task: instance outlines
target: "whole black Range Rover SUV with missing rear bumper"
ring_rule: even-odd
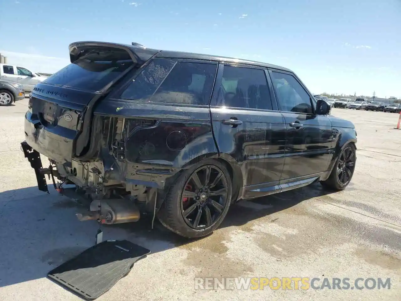
[[[241,199],[316,181],[342,190],[352,178],[354,125],[289,69],[137,43],[69,52],[71,64],[34,87],[21,144],[40,190],[49,175],[89,199],[80,220],[148,212],[195,238]]]

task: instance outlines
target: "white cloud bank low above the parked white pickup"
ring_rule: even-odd
[[[70,63],[68,55],[66,57],[50,57],[37,54],[36,51],[34,53],[22,53],[6,50],[0,50],[0,53],[7,57],[8,64],[20,65],[33,72],[54,73]]]

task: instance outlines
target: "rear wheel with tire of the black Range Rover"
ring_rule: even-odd
[[[207,236],[227,215],[231,193],[231,177],[225,165],[216,160],[203,161],[184,171],[170,187],[158,219],[180,236]]]

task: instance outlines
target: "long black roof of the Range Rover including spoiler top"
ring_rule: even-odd
[[[138,43],[132,43],[134,45],[128,45],[128,44],[121,44],[121,43],[108,43],[108,42],[95,42],[95,41],[80,41],[80,42],[74,42],[71,43],[69,48],[80,44],[80,43],[99,43],[103,45],[117,45],[120,47],[124,48],[129,48],[132,52],[134,52],[140,59],[143,61],[147,61],[155,55],[156,57],[171,57],[171,58],[180,58],[180,59],[199,59],[199,60],[206,60],[206,61],[219,61],[219,62],[227,62],[227,63],[236,63],[236,64],[247,64],[247,65],[253,65],[253,66],[260,66],[260,67],[266,67],[266,68],[272,68],[272,69],[278,69],[282,71],[288,71],[291,73],[294,73],[292,70],[277,66],[277,65],[272,65],[268,63],[263,63],[263,62],[257,62],[257,61],[248,61],[244,59],[237,59],[233,57],[221,57],[217,55],[207,55],[207,54],[201,54],[201,53],[191,53],[191,52],[182,52],[182,51],[169,51],[169,50],[161,50],[161,49],[151,49],[151,48],[146,48],[143,45],[140,45]]]

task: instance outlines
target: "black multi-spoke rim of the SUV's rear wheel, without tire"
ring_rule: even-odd
[[[227,179],[215,165],[204,165],[188,178],[181,194],[181,214],[194,230],[213,226],[229,205]]]

